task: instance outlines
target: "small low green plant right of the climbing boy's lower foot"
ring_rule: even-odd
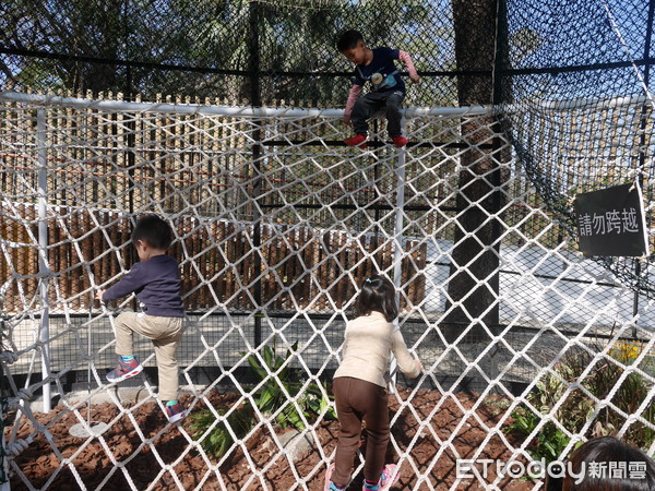
[[[225,416],[229,411],[228,406],[219,406],[216,408],[218,416]],[[191,412],[189,416],[191,424],[189,429],[194,439],[201,439],[205,432],[212,428],[216,421],[216,417],[209,409]],[[245,436],[252,428],[252,409],[242,404],[227,415],[225,419],[215,423],[210,433],[200,442],[203,450],[216,458],[223,457],[234,443],[234,438],[229,429],[237,439]]]

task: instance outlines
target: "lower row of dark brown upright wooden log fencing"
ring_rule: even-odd
[[[11,249],[11,264],[2,261],[0,282],[13,282],[4,309],[23,310],[38,297],[38,251],[34,243],[36,206],[17,206],[22,220],[0,214],[0,235],[26,244]],[[138,218],[138,217],[134,217]],[[135,261],[126,214],[107,209],[59,206],[47,219],[48,302],[52,311],[86,311],[96,286],[118,279]],[[252,224],[180,216],[174,220],[177,239],[169,254],[180,263],[182,296],[189,311],[267,311],[340,308],[359,284],[379,271],[390,272],[393,242],[373,235],[296,225],[262,224],[261,246],[253,247]],[[402,307],[425,298],[426,243],[405,240],[402,259]],[[260,271],[255,271],[259,255]],[[107,285],[108,286],[108,285]],[[255,297],[255,286],[261,298]]]

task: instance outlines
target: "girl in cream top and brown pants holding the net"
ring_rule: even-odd
[[[392,352],[405,375],[415,378],[422,370],[393,324],[398,307],[395,287],[388,278],[377,275],[365,279],[355,302],[355,314],[357,318],[346,325],[343,359],[334,373],[340,432],[335,462],[325,476],[325,491],[346,489],[362,421],[368,434],[362,489],[386,490],[397,481],[397,466],[384,465],[390,434],[384,374]]]

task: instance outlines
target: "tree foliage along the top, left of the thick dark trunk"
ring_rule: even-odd
[[[335,41],[346,28],[413,55],[427,73],[413,103],[455,101],[452,77],[433,74],[454,68],[450,2],[428,0],[8,0],[0,84],[240,101],[257,77],[264,103],[343,105],[353,67]]]

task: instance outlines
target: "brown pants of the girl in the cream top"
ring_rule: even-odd
[[[338,417],[338,445],[332,481],[347,484],[359,446],[361,421],[368,434],[364,478],[378,481],[384,469],[389,445],[389,395],[386,390],[371,382],[350,376],[334,379],[332,386]]]

